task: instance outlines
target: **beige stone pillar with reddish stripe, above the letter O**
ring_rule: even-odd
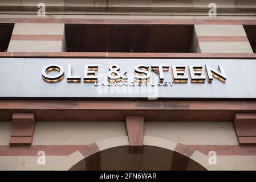
[[[7,52],[64,52],[64,23],[15,23]]]

